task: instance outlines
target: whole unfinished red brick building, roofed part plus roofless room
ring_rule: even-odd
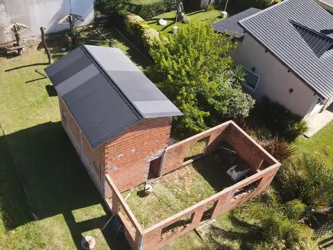
[[[172,140],[172,119],[182,113],[119,49],[80,46],[45,72],[58,92],[62,126],[133,249],[159,249],[259,195],[280,167],[231,121]],[[191,153],[194,144],[200,153]],[[151,203],[157,185],[167,190],[200,174],[212,196],[148,225],[144,205],[133,212],[139,192],[130,190],[149,184],[137,199]],[[191,183],[185,189],[191,195]]]

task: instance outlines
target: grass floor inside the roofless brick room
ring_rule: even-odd
[[[147,228],[233,185],[225,171],[223,163],[201,158],[153,183],[153,192],[147,197],[142,197],[143,185],[135,188],[127,199],[128,206]]]

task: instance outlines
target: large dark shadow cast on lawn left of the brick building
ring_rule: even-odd
[[[4,161],[0,165],[0,206],[8,230],[32,221],[31,211],[38,219],[61,214],[80,249],[83,232],[103,228],[111,214],[60,122],[26,128],[0,140],[0,161]],[[103,206],[104,216],[76,222],[73,210],[96,204]],[[112,228],[102,233],[110,249],[129,249],[123,234],[116,235]]]

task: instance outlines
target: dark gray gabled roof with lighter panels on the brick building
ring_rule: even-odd
[[[182,115],[119,49],[84,45],[45,72],[92,149],[140,119]]]

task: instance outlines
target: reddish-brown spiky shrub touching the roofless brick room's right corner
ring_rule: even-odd
[[[296,149],[290,146],[285,140],[275,137],[271,140],[262,140],[260,142],[262,147],[271,153],[275,159],[284,161],[293,156]]]

